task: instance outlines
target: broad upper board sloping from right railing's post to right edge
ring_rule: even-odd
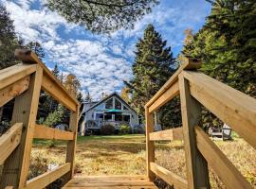
[[[184,71],[194,98],[256,148],[256,100],[200,73]]]

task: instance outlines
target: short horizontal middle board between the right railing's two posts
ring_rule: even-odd
[[[150,133],[150,141],[183,140],[183,129],[174,128]]]

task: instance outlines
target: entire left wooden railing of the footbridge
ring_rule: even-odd
[[[16,50],[15,57],[23,63],[0,70],[0,107],[15,98],[12,127],[0,137],[0,165],[4,164],[0,188],[45,188],[61,177],[66,182],[74,173],[80,105],[34,53]],[[35,124],[41,90],[70,110],[70,131]],[[27,180],[34,138],[66,140],[66,159],[54,170]]]

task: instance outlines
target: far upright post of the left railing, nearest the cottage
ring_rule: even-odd
[[[69,129],[71,129],[71,131],[75,134],[74,139],[72,141],[68,141],[67,143],[65,163],[71,163],[71,169],[67,174],[64,175],[64,182],[71,180],[74,175],[79,110],[80,108],[77,106],[76,112],[70,112]]]

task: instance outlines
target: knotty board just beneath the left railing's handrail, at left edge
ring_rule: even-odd
[[[13,99],[19,94],[25,92],[29,85],[30,77],[24,77],[14,83],[10,84],[6,88],[0,90],[0,107],[4,106],[9,100]]]

